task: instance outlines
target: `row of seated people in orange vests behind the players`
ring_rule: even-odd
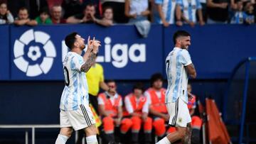
[[[144,89],[142,83],[134,84],[127,96],[117,92],[114,80],[106,82],[107,87],[114,91],[105,91],[97,96],[97,112],[102,120],[100,127],[103,143],[154,143],[176,129],[169,126],[169,114],[165,104],[164,78],[156,73],[151,76],[151,87]],[[188,84],[188,94],[191,94],[191,84]],[[193,143],[200,143],[202,119],[196,116],[196,96],[188,102],[193,128]],[[129,140],[126,139],[127,135]],[[105,136],[103,136],[105,135]]]

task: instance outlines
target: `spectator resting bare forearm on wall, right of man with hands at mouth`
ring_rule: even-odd
[[[105,7],[103,9],[103,18],[98,19],[92,15],[92,20],[95,21],[95,23],[100,24],[102,26],[113,26],[113,9],[111,7]]]

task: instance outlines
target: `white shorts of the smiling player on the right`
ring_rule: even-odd
[[[178,98],[176,102],[167,103],[166,108],[170,115],[169,125],[186,127],[188,123],[191,123],[188,105],[182,99]]]

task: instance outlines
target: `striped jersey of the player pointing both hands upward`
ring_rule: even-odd
[[[80,104],[89,104],[87,79],[85,72],[80,71],[84,63],[82,56],[76,52],[68,52],[63,61],[65,87],[60,99],[63,111],[75,111]]]

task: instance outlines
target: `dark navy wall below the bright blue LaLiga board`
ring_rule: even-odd
[[[117,81],[119,94],[132,92],[133,84],[149,81]],[[212,96],[222,107],[225,80],[193,81],[193,94],[198,99]],[[64,82],[0,82],[0,124],[58,124],[59,104]],[[166,87],[166,83],[164,83]]]

